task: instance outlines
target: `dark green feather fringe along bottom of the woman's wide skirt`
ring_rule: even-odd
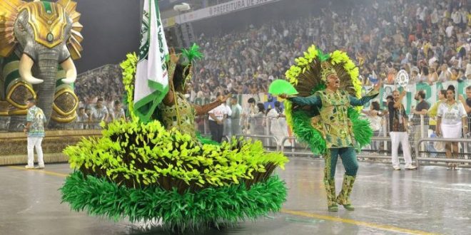
[[[255,219],[268,212],[280,211],[286,200],[285,182],[278,176],[265,182],[227,187],[211,187],[199,192],[178,194],[176,189],[161,187],[142,189],[118,186],[103,178],[73,172],[60,189],[62,202],[75,211],[87,211],[113,221],[128,218],[131,222],[161,219],[164,229],[203,229],[209,224],[234,224]]]

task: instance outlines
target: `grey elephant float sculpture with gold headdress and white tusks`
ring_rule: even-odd
[[[48,126],[65,127],[76,118],[74,93],[81,57],[76,2],[0,0],[0,118],[9,130],[26,120],[26,100],[36,98]]]

